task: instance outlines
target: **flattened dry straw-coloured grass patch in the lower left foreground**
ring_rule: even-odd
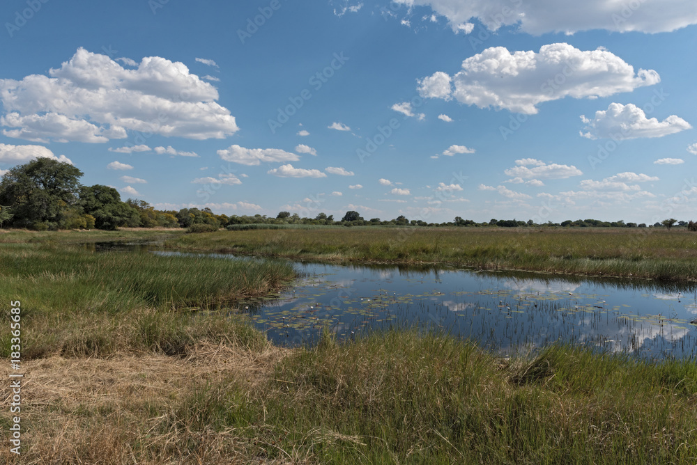
[[[178,425],[176,410],[206,386],[241,384],[250,393],[259,391],[273,366],[291,352],[272,345],[251,352],[209,344],[187,358],[120,352],[109,358],[28,361],[23,365],[21,460],[3,434],[0,463],[250,463],[259,451],[254,443],[239,439],[233,429]],[[3,379],[8,374],[3,370]],[[9,402],[3,399],[0,413],[6,424]],[[274,462],[260,457],[254,463]]]

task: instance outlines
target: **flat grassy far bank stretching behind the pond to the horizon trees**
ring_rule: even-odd
[[[647,228],[323,228],[181,235],[167,246],[335,262],[441,263],[697,280],[697,234]]]

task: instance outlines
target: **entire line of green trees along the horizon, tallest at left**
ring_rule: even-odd
[[[421,219],[409,220],[404,215],[391,220],[364,219],[350,210],[342,219],[323,212],[310,217],[279,212],[275,217],[266,215],[215,214],[209,208],[183,208],[181,210],[155,210],[144,200],[122,201],[121,194],[113,187],[95,184],[84,186],[79,182],[84,173],[71,164],[48,158],[38,158],[27,164],[15,166],[0,181],[0,227],[29,228],[34,230],[105,229],[128,228],[192,228],[206,225],[209,229],[244,224],[302,224],[328,226],[429,226],[429,227],[564,227],[564,228],[646,228],[684,226],[697,231],[693,221],[666,219],[647,225],[624,221],[600,221],[596,219],[567,220],[562,223],[537,224],[532,220],[491,219],[477,222],[456,216],[453,221],[428,223]]]

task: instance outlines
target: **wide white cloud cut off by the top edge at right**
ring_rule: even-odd
[[[477,19],[491,31],[516,25],[535,36],[562,32],[572,34],[591,29],[646,33],[670,32],[697,24],[692,0],[625,1],[586,0],[583,3],[559,0],[395,0],[408,7],[429,6],[447,19],[456,31],[468,29]],[[434,18],[430,18],[431,21]],[[470,31],[471,32],[471,31]]]

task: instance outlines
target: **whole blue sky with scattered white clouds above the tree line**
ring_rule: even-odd
[[[0,171],[68,159],[225,214],[697,219],[694,0],[9,0],[0,20]]]

